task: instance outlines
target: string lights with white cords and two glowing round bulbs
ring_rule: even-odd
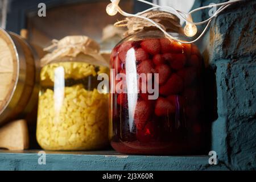
[[[137,0],[137,1],[146,3],[148,5],[151,5],[152,7],[150,9],[144,10],[144,11],[142,11],[140,13],[137,13],[137,14],[129,14],[129,13],[126,13],[125,11],[123,11],[118,6],[118,3],[119,3],[120,0],[110,0],[110,1],[111,1],[111,3],[106,7],[106,12],[110,16],[116,15],[119,12],[123,16],[127,16],[127,17],[131,17],[132,16],[132,17],[137,17],[137,18],[145,19],[148,22],[152,23],[155,27],[159,28],[159,30],[161,30],[164,33],[164,35],[167,36],[167,38],[174,39],[174,40],[176,40],[179,43],[191,44],[191,43],[194,43],[197,40],[199,40],[201,38],[201,36],[204,35],[204,33],[206,32],[207,28],[209,27],[209,24],[212,21],[212,19],[215,18],[218,14],[220,14],[221,11],[223,11],[224,9],[226,9],[228,6],[232,5],[233,3],[241,2],[241,1],[244,1],[244,0],[229,0],[228,2],[218,3],[218,4],[215,4],[215,5],[203,6],[203,7],[199,7],[197,9],[195,9],[195,10],[190,11],[188,14],[186,14],[186,13],[184,13],[182,11],[176,10],[173,7],[155,5],[154,3],[151,3],[151,2],[148,2],[148,1],[145,1],[145,0]],[[213,16],[211,16],[210,18],[208,18],[207,20],[204,20],[202,22],[193,22],[192,16],[191,16],[192,13],[195,13],[196,11],[199,11],[199,10],[203,10],[203,9],[207,9],[207,8],[212,8],[212,7],[217,7],[217,6],[221,6],[221,7],[216,11],[216,13],[213,14]],[[176,39],[173,36],[171,36],[170,34],[168,34],[168,32],[163,30],[163,28],[160,27],[156,22],[154,22],[154,20],[151,20],[150,18],[141,16],[141,14],[143,14],[143,13],[147,13],[148,11],[151,11],[153,9],[158,9],[158,8],[164,9],[164,10],[169,10],[169,11],[170,10],[174,11],[177,14],[177,16],[179,16],[181,19],[185,20],[186,25],[184,27],[184,34],[186,36],[188,36],[188,37],[192,37],[192,36],[196,35],[196,33],[197,33],[196,25],[207,23],[207,26],[205,26],[203,32],[201,32],[201,34],[195,40],[192,40],[191,42],[184,42],[184,41]],[[187,18],[185,18],[184,15],[187,16]]]

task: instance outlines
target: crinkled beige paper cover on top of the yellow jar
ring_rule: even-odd
[[[79,61],[89,64],[109,67],[108,61],[100,55],[100,45],[88,36],[66,36],[61,40],[52,40],[52,45],[44,48],[49,51],[55,48],[41,59],[41,67],[49,63],[64,61]]]

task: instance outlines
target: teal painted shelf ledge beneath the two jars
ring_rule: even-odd
[[[115,151],[46,151],[39,164],[39,150],[0,150],[0,170],[228,170],[223,163],[209,165],[209,156],[123,155]]]

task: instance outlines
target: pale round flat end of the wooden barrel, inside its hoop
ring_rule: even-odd
[[[18,60],[13,40],[0,30],[0,114],[10,101],[18,80]]]

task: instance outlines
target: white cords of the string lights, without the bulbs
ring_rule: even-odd
[[[154,24],[155,27],[159,28],[160,31],[162,31],[164,33],[164,35],[167,36],[167,38],[170,38],[170,39],[174,39],[176,40],[177,42],[180,42],[180,43],[183,43],[183,44],[191,44],[191,43],[194,43],[196,42],[197,40],[199,40],[204,34],[205,32],[207,31],[207,28],[209,27],[209,24],[210,22],[212,22],[212,19],[215,18],[218,14],[221,13],[221,11],[225,10],[227,7],[229,7],[230,5],[232,5],[233,3],[236,3],[236,2],[240,2],[240,1],[243,1],[243,0],[230,0],[228,2],[223,2],[223,3],[217,3],[215,5],[208,5],[208,6],[203,6],[203,7],[199,7],[195,10],[192,10],[190,11],[189,13],[184,13],[182,11],[179,11],[179,10],[176,10],[174,9],[173,7],[168,7],[168,6],[159,6],[159,5],[155,5],[154,3],[151,3],[151,2],[148,2],[148,1],[144,1],[144,0],[137,0],[139,2],[143,2],[143,3],[146,3],[148,5],[151,5],[152,7],[150,9],[147,9],[147,10],[144,10],[142,12],[139,12],[137,14],[130,14],[130,13],[126,13],[125,11],[123,11],[119,6],[118,6],[118,3],[119,3],[119,0],[110,0],[112,1],[112,3],[114,3],[116,6],[117,6],[117,10],[120,14],[122,14],[123,16],[127,16],[127,17],[137,17],[137,18],[141,18],[141,19],[144,19],[144,20],[147,20],[148,22]],[[191,19],[188,19],[188,18],[184,18],[183,15],[186,15],[187,17],[191,17],[191,14],[192,13],[195,13],[196,11],[199,11],[199,10],[203,10],[203,9],[207,9],[207,8],[212,8],[212,7],[217,7],[217,6],[221,6],[210,18],[208,18],[207,20],[204,20],[202,22],[192,22]],[[175,11],[175,13],[180,16],[181,19],[185,20],[186,23],[189,23],[189,24],[194,24],[194,25],[200,25],[200,24],[204,24],[204,23],[207,23],[207,25],[205,26],[203,32],[201,32],[201,34],[195,39],[195,40],[192,40],[191,42],[184,42],[182,40],[179,40],[179,39],[176,39],[174,38],[173,36],[171,36],[170,34],[168,34],[168,32],[166,32],[162,27],[159,26],[159,24],[157,24],[156,22],[154,22],[154,20],[151,20],[150,18],[147,18],[145,16],[141,16],[143,13],[147,13],[148,11],[151,11],[151,10],[154,10],[154,9],[158,9],[158,8],[161,8],[161,9],[164,9],[164,10],[171,10],[171,11]]]

